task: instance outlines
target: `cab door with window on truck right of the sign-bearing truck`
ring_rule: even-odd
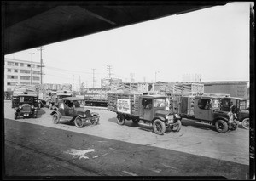
[[[212,120],[211,99],[195,99],[195,118]]]

